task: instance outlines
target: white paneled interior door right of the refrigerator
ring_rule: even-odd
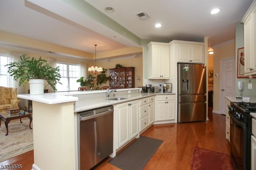
[[[220,61],[220,114],[226,115],[225,96],[235,95],[235,59],[223,59]]]

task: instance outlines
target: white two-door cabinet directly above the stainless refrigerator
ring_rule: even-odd
[[[179,63],[204,63],[204,43],[174,41]]]

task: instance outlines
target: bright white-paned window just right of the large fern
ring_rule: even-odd
[[[60,82],[56,84],[58,91],[77,91],[80,84],[76,82],[80,78],[80,65],[68,63],[56,63],[60,67]]]

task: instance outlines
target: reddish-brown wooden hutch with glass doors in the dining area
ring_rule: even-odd
[[[109,69],[109,87],[115,89],[134,88],[135,67]]]

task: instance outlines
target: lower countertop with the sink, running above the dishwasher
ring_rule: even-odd
[[[126,95],[116,95],[115,97],[126,98],[123,100],[107,100],[106,98],[96,98],[96,99],[86,99],[86,100],[78,100],[75,103],[74,112],[87,111],[90,109],[96,109],[99,107],[105,107],[109,105],[116,105],[120,103],[125,103],[132,100],[142,99],[144,97],[150,97],[154,95],[175,95],[175,93],[131,93]],[[109,97],[113,98],[113,97]]]

